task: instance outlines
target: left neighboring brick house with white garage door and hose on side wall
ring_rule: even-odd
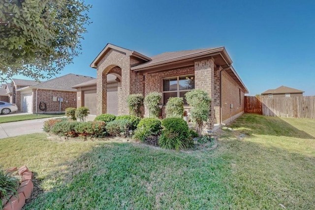
[[[64,112],[68,107],[76,107],[76,89],[72,86],[94,80],[95,78],[67,74],[45,82],[34,83],[17,89],[20,111],[28,113]],[[12,80],[13,81],[13,80]]]

